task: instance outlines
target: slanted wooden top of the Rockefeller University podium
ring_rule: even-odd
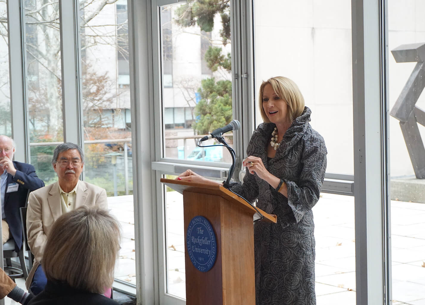
[[[241,199],[238,195],[233,194],[224,186],[218,184],[208,184],[200,182],[191,182],[191,181],[180,181],[174,179],[165,179],[161,178],[161,182],[167,186],[170,186],[172,189],[183,194],[185,192],[195,192],[195,193],[204,193],[209,195],[220,196],[228,201],[237,201],[238,203],[244,205],[246,208],[252,210],[252,214],[258,214],[257,211],[249,203]],[[276,215],[268,214],[263,210],[257,208],[258,211],[264,216],[265,221],[276,223]]]

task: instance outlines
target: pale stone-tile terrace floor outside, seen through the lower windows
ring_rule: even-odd
[[[122,225],[115,275],[136,283],[133,196],[108,198]],[[185,295],[182,197],[167,192],[168,293]],[[356,304],[354,198],[322,194],[313,208],[317,305]],[[391,201],[393,304],[425,305],[425,204]],[[18,285],[24,287],[23,280]],[[6,304],[14,304],[6,300]]]

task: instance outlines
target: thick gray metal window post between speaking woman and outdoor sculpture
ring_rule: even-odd
[[[354,213],[357,304],[389,304],[385,257],[388,152],[382,88],[382,8],[373,1],[353,1],[352,65],[354,121]],[[381,118],[381,119],[379,119]]]

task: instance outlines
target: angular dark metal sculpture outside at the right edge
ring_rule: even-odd
[[[400,45],[391,51],[396,62],[417,62],[390,115],[400,121],[416,178],[425,179],[425,148],[418,123],[425,126],[425,111],[416,102],[425,88],[425,43]]]

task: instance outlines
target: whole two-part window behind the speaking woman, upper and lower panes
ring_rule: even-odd
[[[326,172],[353,174],[351,2],[254,0],[253,14],[256,125],[261,82],[292,79],[325,139]],[[322,194],[313,215],[317,304],[354,305],[354,198]]]

